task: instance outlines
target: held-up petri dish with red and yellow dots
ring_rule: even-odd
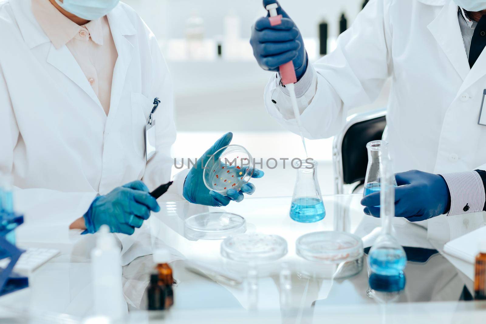
[[[240,190],[254,171],[251,154],[241,145],[228,145],[211,155],[204,166],[203,180],[209,190],[226,195],[227,189]]]

